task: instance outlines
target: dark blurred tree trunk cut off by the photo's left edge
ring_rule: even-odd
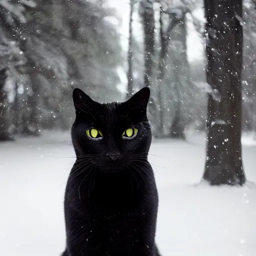
[[[6,69],[0,70],[0,141],[13,140],[14,137],[8,132],[9,119],[6,106],[6,94],[4,92],[4,83],[7,78]]]

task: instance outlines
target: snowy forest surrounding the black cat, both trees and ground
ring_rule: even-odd
[[[255,74],[255,0],[0,0],[0,255],[64,248],[73,89],[146,86],[161,255],[254,256]]]

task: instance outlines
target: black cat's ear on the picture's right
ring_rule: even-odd
[[[145,110],[150,96],[150,89],[148,87],[143,87],[132,95],[127,101],[125,101],[126,107],[129,110],[141,109]]]

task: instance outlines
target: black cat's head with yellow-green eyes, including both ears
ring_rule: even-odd
[[[71,136],[77,158],[102,171],[129,167],[134,158],[146,159],[152,137],[146,116],[149,94],[144,87],[125,102],[101,104],[74,89]]]

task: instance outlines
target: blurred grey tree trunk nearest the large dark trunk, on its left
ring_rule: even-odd
[[[184,108],[184,98],[190,98],[189,95],[189,69],[187,62],[186,49],[186,13],[187,7],[170,8],[165,11],[170,17],[170,23],[167,28],[166,37],[171,40],[171,68],[170,89],[174,94],[174,117],[172,118],[169,136],[171,138],[185,139],[185,125],[188,118],[183,118],[182,108]],[[165,53],[166,54],[166,53]],[[187,88],[187,89],[184,89]],[[161,91],[161,90],[160,90]],[[188,92],[188,93],[187,93]],[[164,108],[164,105],[161,106]],[[188,117],[188,116],[187,116]],[[186,122],[184,122],[186,119]]]

